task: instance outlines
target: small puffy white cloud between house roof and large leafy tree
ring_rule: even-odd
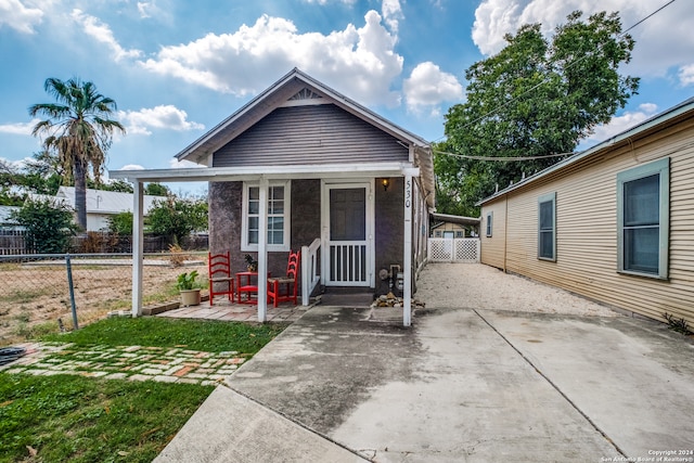
[[[455,76],[442,72],[432,62],[420,63],[402,82],[408,110],[419,112],[424,107],[438,111],[445,101],[463,98],[463,86]]]

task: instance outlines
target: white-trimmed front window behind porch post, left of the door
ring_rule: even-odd
[[[290,250],[291,182],[268,187],[268,250]],[[258,250],[260,231],[260,185],[243,185],[241,250]]]

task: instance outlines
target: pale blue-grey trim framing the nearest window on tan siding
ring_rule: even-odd
[[[624,184],[644,177],[659,175],[658,273],[625,269]],[[654,160],[617,173],[617,272],[658,280],[668,279],[670,234],[670,158]]]

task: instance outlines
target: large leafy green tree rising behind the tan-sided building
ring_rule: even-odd
[[[506,35],[498,54],[465,73],[467,100],[446,115],[446,141],[436,144],[439,210],[476,215],[475,203],[561,160],[606,124],[637,93],[639,79],[622,76],[633,39],[617,13],[582,18],[576,11],[548,39],[540,24]],[[480,160],[464,156],[531,157]]]

